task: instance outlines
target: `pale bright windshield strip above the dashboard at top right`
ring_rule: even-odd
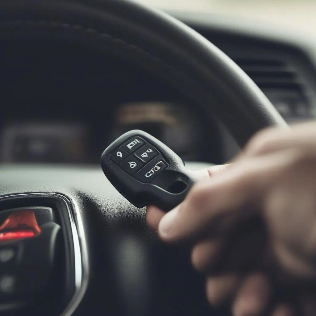
[[[140,0],[163,10],[209,12],[282,25],[316,36],[315,0]]]

